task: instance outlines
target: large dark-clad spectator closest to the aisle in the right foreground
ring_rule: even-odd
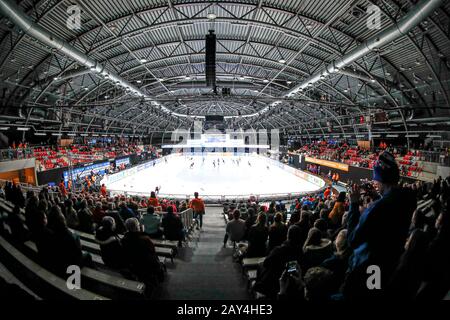
[[[300,243],[301,230],[294,225],[289,227],[287,240],[275,247],[266,257],[262,266],[258,269],[257,279],[253,289],[269,298],[275,298],[279,292],[279,279],[286,263],[299,261],[302,251]]]

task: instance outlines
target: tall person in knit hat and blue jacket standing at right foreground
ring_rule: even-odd
[[[347,230],[353,255],[342,287],[344,299],[386,297],[387,283],[404,251],[411,218],[417,206],[415,193],[401,188],[399,179],[394,156],[383,152],[373,169],[375,188],[381,198],[360,214],[360,187],[352,187]],[[380,271],[378,275],[374,268]],[[377,280],[371,276],[379,278],[380,286],[375,285],[374,288]]]

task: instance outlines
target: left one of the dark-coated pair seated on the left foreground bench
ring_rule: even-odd
[[[103,262],[110,268],[126,267],[125,253],[116,233],[116,223],[112,217],[103,217],[95,232],[95,240],[100,245]]]

